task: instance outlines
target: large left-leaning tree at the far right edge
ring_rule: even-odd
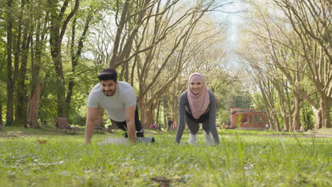
[[[311,106],[318,109],[316,124],[320,128],[330,128],[329,115],[332,101],[332,54],[331,54],[331,4],[327,1],[275,1],[292,24],[294,32],[301,41],[303,57],[319,96],[319,108],[303,92],[295,88],[297,94],[304,96]],[[296,86],[296,85],[294,85]]]

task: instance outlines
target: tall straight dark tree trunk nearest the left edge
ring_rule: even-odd
[[[12,28],[13,28],[13,15],[12,15],[13,0],[7,0],[7,18],[6,18],[6,31],[7,31],[7,113],[6,125],[13,125],[13,81],[11,79],[11,46],[12,46]]]

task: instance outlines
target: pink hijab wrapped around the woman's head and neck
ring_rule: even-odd
[[[192,91],[190,90],[190,83],[192,81],[200,81],[201,84],[203,85],[203,88],[197,95],[192,93]],[[192,109],[192,116],[194,116],[195,119],[198,119],[199,117],[201,117],[202,114],[204,114],[206,108],[208,108],[210,104],[209,92],[206,89],[203,74],[193,73],[190,75],[187,98],[189,101],[190,109]]]

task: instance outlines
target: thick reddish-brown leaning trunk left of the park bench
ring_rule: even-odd
[[[35,90],[30,93],[26,119],[28,127],[40,128],[40,125],[38,124],[38,109],[42,89],[43,84],[38,83]]]

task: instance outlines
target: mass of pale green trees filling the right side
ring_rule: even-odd
[[[316,115],[316,125],[329,128],[332,87],[327,85],[332,64],[326,49],[331,48],[327,39],[331,38],[331,13],[321,12],[329,12],[330,5],[320,0],[314,4],[310,0],[247,2],[248,25],[243,27],[239,54],[248,64],[250,77],[260,85],[268,117],[277,128],[280,114],[287,130],[298,130],[305,102],[314,108],[314,113],[309,110],[306,115]]]

